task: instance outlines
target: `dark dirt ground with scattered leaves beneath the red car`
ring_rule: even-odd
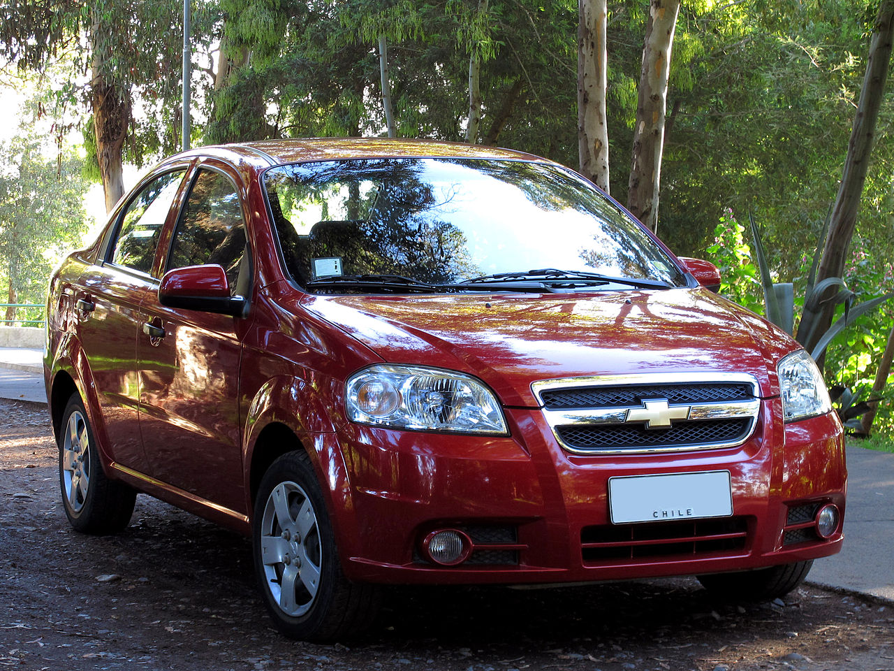
[[[399,588],[358,640],[289,641],[268,624],[246,539],[143,496],[122,534],[72,531],[46,408],[0,412],[0,669],[894,669],[890,604],[814,587],[723,604],[688,579]]]

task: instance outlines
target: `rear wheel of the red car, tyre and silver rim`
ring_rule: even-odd
[[[72,527],[97,535],[122,531],[131,522],[137,493],[105,477],[87,411],[77,394],[65,405],[56,443],[59,484]]]

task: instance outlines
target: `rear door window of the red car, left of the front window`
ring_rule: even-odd
[[[163,174],[143,187],[122,215],[112,262],[142,273],[152,271],[164,220],[180,188],[184,171]]]

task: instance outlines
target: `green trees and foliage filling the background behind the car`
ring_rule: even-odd
[[[138,165],[178,149],[179,2],[57,0],[52,11],[19,0],[0,5],[10,17],[0,27],[0,81],[53,64],[55,76],[37,87],[42,102],[22,117],[58,119],[50,135],[60,140],[72,125],[79,128],[87,156],[81,161],[93,166],[86,174],[108,173],[107,165],[99,166],[118,140],[123,159]],[[839,188],[879,8],[880,0],[680,5],[658,233],[681,255],[717,262],[723,291],[749,308],[763,310],[751,236],[738,223],[749,212],[761,224],[774,279],[795,283],[796,296],[803,295]],[[626,202],[650,2],[610,0],[606,9],[609,188]],[[499,144],[578,166],[576,2],[194,0],[193,12],[194,144],[384,135],[390,102],[398,136]],[[471,72],[477,106],[469,97]],[[894,142],[886,141],[892,103],[889,85],[845,275],[862,298],[894,288]],[[104,125],[103,115],[114,118]],[[470,131],[469,119],[479,116]],[[117,139],[114,128],[121,131]],[[67,189],[82,190],[62,169],[73,149],[55,141],[50,148],[57,160],[37,161],[30,172],[44,169]],[[20,157],[8,150],[0,156],[0,172],[13,175],[11,183],[22,169]],[[6,239],[25,201],[4,188],[0,238]],[[62,213],[76,210],[52,209],[55,221],[35,218],[30,225],[55,232],[61,242],[76,229]],[[24,281],[7,265],[0,282],[19,300],[40,302],[48,267],[47,261],[42,270],[27,270]],[[892,328],[890,304],[849,327],[828,352],[828,381],[867,395]],[[874,429],[894,432],[890,399]]]

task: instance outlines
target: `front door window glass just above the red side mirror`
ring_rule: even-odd
[[[168,270],[215,263],[235,293],[246,253],[239,194],[223,174],[199,171],[174,232]]]

